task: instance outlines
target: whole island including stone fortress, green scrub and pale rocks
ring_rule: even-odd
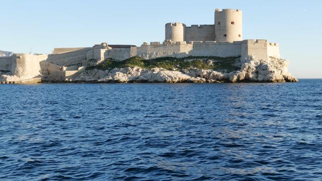
[[[55,48],[52,54],[0,57],[0,81],[296,82],[279,44],[243,40],[241,10],[215,10],[212,25],[168,23],[165,41]]]

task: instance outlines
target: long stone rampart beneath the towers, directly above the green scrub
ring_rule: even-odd
[[[158,57],[187,57],[187,56],[254,56],[267,60],[270,56],[280,58],[279,47],[276,43],[268,43],[267,40],[244,40],[234,42],[216,41],[190,41],[151,42],[149,45],[143,43],[141,47],[129,49],[106,50],[104,58],[125,60],[130,57],[140,56],[144,59]]]

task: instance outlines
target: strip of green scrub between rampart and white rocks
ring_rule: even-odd
[[[168,70],[173,69],[213,69],[217,71],[234,71],[239,68],[234,64],[239,57],[185,57],[185,58],[174,58],[174,57],[161,57],[151,60],[144,60],[141,57],[131,57],[124,61],[117,61],[112,58],[108,58],[101,62],[95,67],[89,67],[90,69],[97,68],[101,70],[107,70],[112,68],[125,68],[125,67],[141,67],[141,68],[164,68]],[[209,60],[212,64],[209,64]]]

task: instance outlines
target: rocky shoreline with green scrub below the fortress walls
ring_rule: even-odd
[[[243,57],[185,57],[124,61],[87,61],[82,70],[65,78],[54,78],[42,71],[36,77],[18,77],[0,72],[1,81],[21,83],[220,83],[220,82],[297,82],[288,72],[289,62],[270,57],[260,60]],[[77,67],[76,67],[77,68]]]

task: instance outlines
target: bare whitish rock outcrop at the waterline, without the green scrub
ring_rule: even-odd
[[[211,64],[212,62],[208,61]],[[212,69],[166,70],[163,68],[143,69],[114,68],[110,70],[91,69],[79,72],[68,81],[77,82],[297,82],[288,71],[287,60],[270,57],[263,61],[254,57],[240,58],[237,71],[218,72]]]

